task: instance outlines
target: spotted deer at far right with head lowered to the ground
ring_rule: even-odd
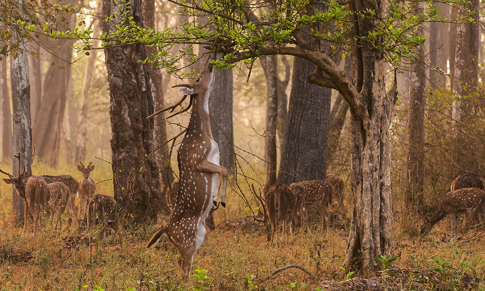
[[[478,188],[462,188],[448,192],[438,205],[438,209],[424,221],[421,235],[428,235],[433,226],[445,216],[450,218],[451,241],[456,236],[458,216],[467,213],[473,223],[478,224],[478,214],[484,211],[485,191]]]

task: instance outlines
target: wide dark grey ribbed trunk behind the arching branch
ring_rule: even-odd
[[[278,183],[325,178],[332,90],[308,82],[314,69],[314,64],[295,57]]]

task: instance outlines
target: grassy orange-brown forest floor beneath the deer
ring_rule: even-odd
[[[48,220],[36,238],[32,228],[22,236],[12,222],[10,188],[1,183],[0,190],[0,290],[188,290],[179,283],[178,252],[170,242],[146,249],[157,224],[125,224],[122,245],[110,235],[90,260],[86,230],[77,226],[59,233]],[[297,230],[274,246],[241,200],[229,194],[228,207],[214,212],[216,230],[194,256],[192,275],[200,274],[191,278],[194,290],[485,290],[484,239],[449,242],[448,219],[424,240],[406,234],[396,219],[399,259],[382,258],[357,274],[340,268],[351,213],[334,211],[329,232],[317,217],[310,232]],[[291,264],[312,275],[298,268],[272,275]]]

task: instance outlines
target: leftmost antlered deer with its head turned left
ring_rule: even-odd
[[[47,205],[49,201],[49,187],[41,176],[29,177],[30,173],[25,172],[25,166],[20,172],[20,165],[22,164],[20,152],[14,157],[18,160],[17,176],[13,176],[1,169],[0,173],[8,175],[8,179],[3,179],[3,181],[7,184],[13,184],[17,194],[24,200],[24,228],[22,235],[25,233],[27,217],[30,211],[33,217],[33,236],[35,237],[37,234],[37,222],[42,226],[42,212],[49,210]],[[27,178],[26,183],[24,180]]]

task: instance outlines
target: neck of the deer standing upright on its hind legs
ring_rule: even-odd
[[[209,136],[212,138],[212,132],[210,131],[210,116],[209,116],[209,95],[210,90],[207,90],[205,94],[195,94],[194,105],[190,117],[189,126],[187,127],[187,133],[192,136]]]

